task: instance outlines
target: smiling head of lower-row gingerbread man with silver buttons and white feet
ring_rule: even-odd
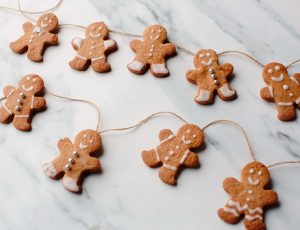
[[[90,154],[101,149],[101,137],[95,130],[83,130],[76,136],[74,145],[76,149]]]

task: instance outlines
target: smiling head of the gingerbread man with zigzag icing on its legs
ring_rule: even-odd
[[[270,182],[270,173],[265,165],[255,161],[244,167],[241,180],[248,186],[264,188]]]

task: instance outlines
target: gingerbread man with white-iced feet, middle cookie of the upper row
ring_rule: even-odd
[[[168,76],[165,58],[174,55],[176,47],[172,43],[164,43],[167,40],[166,29],[161,25],[149,26],[145,29],[143,38],[144,41],[135,39],[130,43],[136,57],[127,65],[128,69],[135,74],[143,74],[150,65],[154,76]]]

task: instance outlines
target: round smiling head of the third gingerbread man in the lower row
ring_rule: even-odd
[[[188,148],[197,148],[204,142],[202,129],[192,124],[182,126],[178,130],[177,136],[181,137],[182,142],[187,145]]]

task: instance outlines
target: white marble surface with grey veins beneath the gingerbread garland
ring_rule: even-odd
[[[54,2],[24,0],[22,4],[40,10]],[[2,0],[1,5],[16,7],[17,2]],[[88,25],[104,20],[111,29],[138,34],[149,24],[161,23],[168,28],[170,40],[193,51],[238,49],[264,63],[287,64],[300,57],[299,7],[293,0],[65,0],[55,14],[61,23]],[[185,79],[185,71],[193,68],[192,57],[181,50],[168,61],[170,77],[135,76],[126,68],[134,57],[128,46],[132,38],[111,34],[119,45],[109,56],[113,70],[76,72],[68,66],[75,54],[70,41],[83,36],[83,30],[62,28],[60,45],[46,51],[44,63],[33,63],[25,55],[13,54],[8,46],[20,35],[25,21],[21,14],[0,10],[1,88],[37,73],[51,91],[95,101],[101,108],[102,129],[127,126],[153,112],[169,110],[199,126],[216,119],[238,122],[265,164],[300,158],[300,119],[288,123],[276,119],[274,104],[259,97],[264,86],[261,68],[243,57],[227,55],[220,60],[235,66],[232,86],[239,97],[232,102],[217,98],[212,106],[199,106],[193,102],[195,86]],[[300,72],[299,68],[290,72]],[[235,128],[219,125],[206,130],[206,148],[198,152],[201,167],[183,170],[177,187],[163,184],[158,170],[144,165],[140,152],[158,143],[160,129],[175,131],[180,121],[161,116],[129,132],[105,134],[103,172],[87,177],[83,193],[76,195],[60,181],[47,178],[41,166],[58,153],[60,137],[73,139],[80,130],[94,128],[96,114],[88,105],[50,95],[46,99],[48,110],[34,117],[32,132],[0,125],[0,229],[244,228],[242,222],[225,224],[216,214],[227,200],[223,179],[239,178],[249,161]],[[300,166],[274,168],[271,175],[280,206],[267,211],[268,229],[298,229]]]

